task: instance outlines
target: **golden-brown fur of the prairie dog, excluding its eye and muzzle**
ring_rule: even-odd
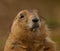
[[[24,19],[19,18],[21,13],[25,15]],[[22,10],[18,13],[4,51],[56,51],[54,42],[48,37],[48,28],[43,18],[40,17],[41,27],[38,30],[32,32],[28,29],[25,22],[31,19],[31,15],[38,16],[35,10]]]

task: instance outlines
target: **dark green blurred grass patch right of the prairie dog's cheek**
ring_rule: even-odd
[[[60,22],[58,22],[56,19],[54,18],[50,18],[47,20],[47,24],[50,28],[58,28],[60,27]]]

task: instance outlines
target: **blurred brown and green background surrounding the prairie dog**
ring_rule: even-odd
[[[52,39],[60,49],[60,1],[59,0],[0,0],[0,51],[3,51],[10,26],[22,9],[38,9],[47,20]]]

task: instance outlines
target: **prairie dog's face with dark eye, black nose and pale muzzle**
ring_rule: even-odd
[[[30,30],[36,31],[41,27],[41,18],[36,10],[22,10],[16,16],[19,25]]]

